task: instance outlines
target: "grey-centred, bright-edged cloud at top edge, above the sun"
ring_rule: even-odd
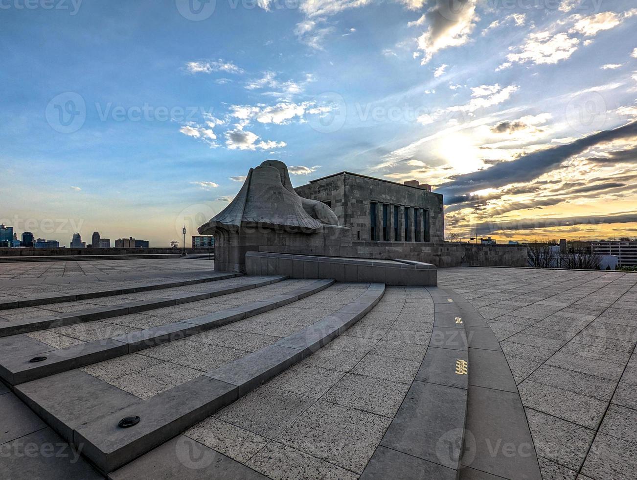
[[[410,22],[410,26],[427,24],[427,30],[417,39],[418,49],[423,52],[421,64],[429,62],[440,50],[469,42],[476,22],[480,20],[476,2],[438,0],[419,20]]]

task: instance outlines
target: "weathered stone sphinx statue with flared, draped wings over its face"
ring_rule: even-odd
[[[307,253],[311,245],[340,244],[343,230],[325,203],[294,191],[285,163],[266,160],[250,168],[230,205],[199,234],[215,236],[215,270],[242,272],[247,251],[286,247]]]

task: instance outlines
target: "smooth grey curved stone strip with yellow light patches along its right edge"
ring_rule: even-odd
[[[361,479],[455,480],[459,475],[469,377],[464,318],[447,290],[427,291],[434,301],[427,352]]]

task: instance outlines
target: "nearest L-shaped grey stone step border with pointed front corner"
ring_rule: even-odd
[[[62,437],[82,445],[83,455],[99,469],[111,472],[327,344],[371,310],[384,290],[384,284],[371,284],[354,302],[310,326],[148,400],[125,394],[96,377],[82,376],[82,372],[25,383],[15,391]],[[56,393],[59,396],[68,391],[75,395],[78,388],[84,389],[83,398],[100,397],[101,403],[65,403],[55,398]],[[140,416],[140,423],[131,428],[118,427],[120,419],[135,415]]]

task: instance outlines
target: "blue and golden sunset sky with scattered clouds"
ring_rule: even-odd
[[[637,236],[636,7],[0,0],[0,222],[165,247],[280,159],[431,184],[461,238]]]

